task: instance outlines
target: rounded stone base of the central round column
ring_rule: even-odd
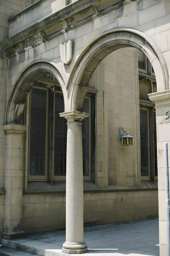
[[[62,253],[68,253],[68,254],[81,254],[81,253],[87,253],[88,247],[85,242],[82,243],[69,243],[65,242],[62,245]]]

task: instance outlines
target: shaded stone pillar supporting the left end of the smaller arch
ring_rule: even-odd
[[[20,237],[25,233],[22,223],[23,197],[23,133],[27,126],[4,125],[5,146],[5,222],[4,239]]]

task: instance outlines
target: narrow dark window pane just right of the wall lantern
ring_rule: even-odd
[[[141,176],[149,175],[147,114],[147,110],[140,109]]]

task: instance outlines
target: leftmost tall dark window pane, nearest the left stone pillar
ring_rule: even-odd
[[[30,175],[45,175],[47,91],[31,89]]]

